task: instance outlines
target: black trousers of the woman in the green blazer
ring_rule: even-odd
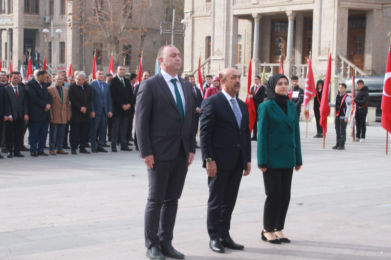
[[[263,208],[263,228],[267,231],[284,229],[290,201],[293,168],[267,168],[263,173],[266,200]]]

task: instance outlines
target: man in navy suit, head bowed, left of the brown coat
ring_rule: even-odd
[[[40,69],[37,76],[26,84],[28,116],[30,120],[30,155],[48,156],[43,152],[45,148],[47,131],[49,129],[50,107],[52,99],[47,91],[47,71]]]

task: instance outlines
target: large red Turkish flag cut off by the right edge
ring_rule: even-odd
[[[391,48],[391,46],[390,46]],[[391,132],[391,54],[388,51],[386,74],[384,75],[384,88],[382,96],[382,127]]]

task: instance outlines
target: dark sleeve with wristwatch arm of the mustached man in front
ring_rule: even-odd
[[[199,120],[199,142],[201,145],[202,161],[207,158],[214,159],[212,149],[212,135],[216,122],[216,110],[211,99],[202,102],[201,118]]]

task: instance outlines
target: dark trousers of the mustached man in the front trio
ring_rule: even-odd
[[[231,216],[238,197],[243,176],[241,152],[231,170],[218,170],[215,177],[208,177],[209,199],[206,225],[211,240],[229,238]]]

